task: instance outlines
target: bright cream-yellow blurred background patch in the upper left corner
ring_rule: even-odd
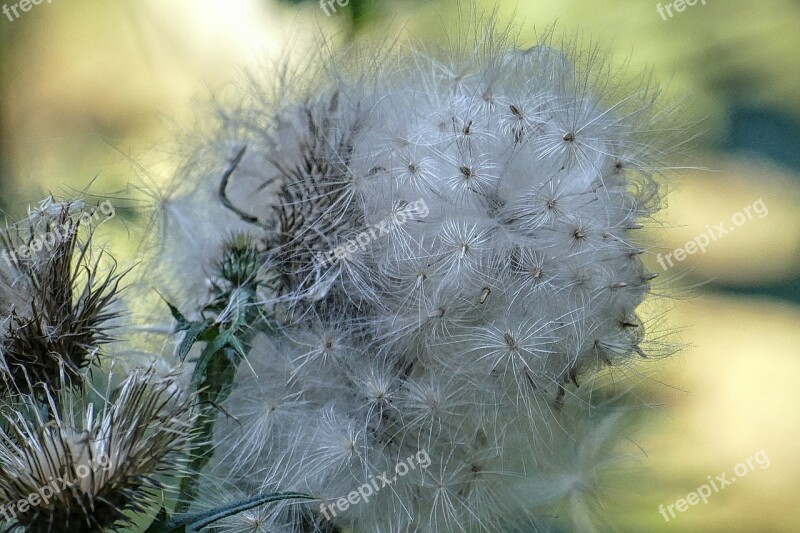
[[[11,136],[0,142],[10,145],[12,174],[54,192],[99,174],[96,193],[130,177],[130,155],[168,176],[175,161],[159,143],[192,127],[196,102],[205,106],[290,41],[302,55],[293,18],[256,0],[42,4],[8,23],[24,36],[2,54],[0,112]]]

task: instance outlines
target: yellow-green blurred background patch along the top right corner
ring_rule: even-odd
[[[567,34],[590,37],[610,47],[617,61],[629,61],[633,72],[652,68],[671,97],[693,104],[689,112],[704,119],[712,134],[724,121],[720,97],[729,95],[720,85],[731,73],[746,73],[754,90],[742,96],[751,103],[800,109],[797,2],[708,0],[666,20],[658,14],[659,4],[670,2],[480,2],[529,30],[557,23]]]

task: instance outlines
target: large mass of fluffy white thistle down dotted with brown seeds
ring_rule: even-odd
[[[589,507],[610,422],[587,424],[578,387],[646,356],[633,233],[682,139],[652,87],[545,41],[333,61],[223,107],[200,152],[229,152],[199,189],[218,205],[187,203],[227,211],[207,240],[257,243],[259,298],[231,305],[262,321],[215,471],[324,500],[262,530],[499,531],[545,527],[558,497]]]

